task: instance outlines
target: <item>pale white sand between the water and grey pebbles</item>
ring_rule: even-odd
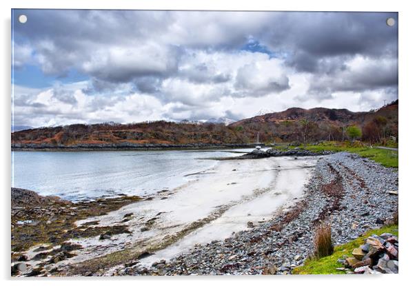
[[[72,239],[71,243],[83,248],[75,250],[75,256],[45,268],[74,265],[114,252],[151,252],[141,259],[143,265],[150,266],[196,244],[228,238],[264,223],[301,198],[317,159],[220,161],[208,170],[188,174],[188,183],[174,190],[161,190],[106,215],[77,221],[78,227],[123,225],[130,233]],[[35,248],[27,252],[29,260],[36,255]]]

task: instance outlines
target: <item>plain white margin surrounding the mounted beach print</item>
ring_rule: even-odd
[[[413,28],[415,27],[414,8],[410,6],[410,1],[329,1],[329,0],[290,0],[290,1],[247,1],[247,0],[152,0],[152,1],[132,1],[132,0],[72,0],[72,1],[48,1],[48,0],[14,0],[1,1],[1,63],[0,69],[1,87],[1,182],[2,194],[2,230],[1,236],[1,270],[2,278],[7,285],[20,285],[23,283],[42,284],[42,285],[73,285],[74,280],[80,285],[87,285],[91,282],[100,285],[114,285],[114,283],[156,283],[168,285],[182,285],[182,283],[192,283],[201,285],[211,285],[212,283],[238,283],[239,285],[252,285],[252,283],[272,284],[290,283],[291,284],[328,284],[328,285],[349,285],[353,284],[389,284],[400,285],[410,279],[413,263],[412,241],[414,237],[414,227],[412,226],[414,202],[413,182],[411,176],[412,162],[414,162],[414,113],[415,92],[413,82],[411,82],[412,65],[414,61],[414,37]],[[10,278],[10,9],[11,8],[57,8],[57,9],[144,9],[144,10],[279,10],[279,11],[376,11],[376,12],[399,12],[399,212],[401,213],[401,269],[398,275],[382,276],[218,276],[218,277],[128,277],[128,278]],[[413,81],[413,80],[412,80]],[[122,281],[122,282],[121,282]]]

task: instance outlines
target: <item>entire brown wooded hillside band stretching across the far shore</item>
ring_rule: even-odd
[[[349,125],[363,129],[363,140],[398,135],[398,101],[372,112],[290,108],[225,125],[223,123],[74,124],[12,133],[13,149],[204,147],[280,141],[343,140]]]

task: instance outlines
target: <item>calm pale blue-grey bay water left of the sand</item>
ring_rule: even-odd
[[[12,187],[72,201],[152,194],[218,162],[203,158],[241,155],[230,151],[12,152]]]

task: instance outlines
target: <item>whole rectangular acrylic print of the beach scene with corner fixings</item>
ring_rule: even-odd
[[[398,273],[398,13],[12,10],[12,276]]]

